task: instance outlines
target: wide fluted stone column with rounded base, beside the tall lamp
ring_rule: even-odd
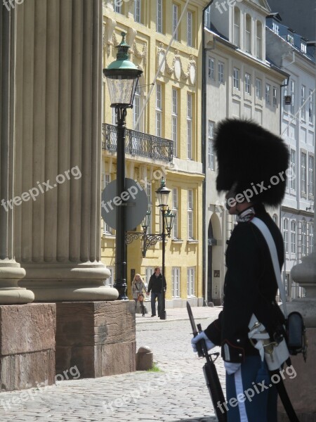
[[[20,286],[37,301],[114,300],[100,260],[102,2],[27,0],[16,13]]]

